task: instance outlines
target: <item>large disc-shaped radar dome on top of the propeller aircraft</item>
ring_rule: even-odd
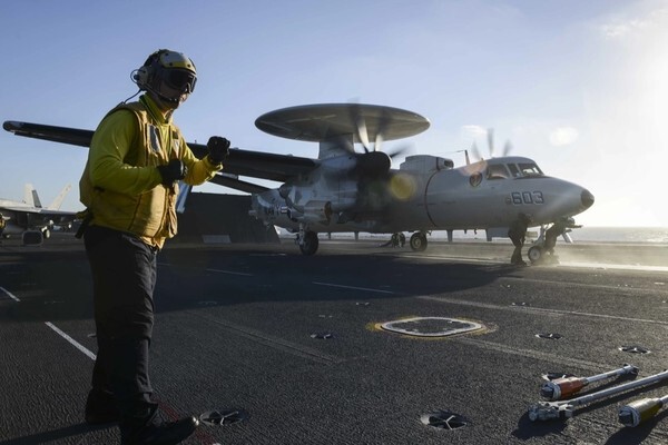
[[[423,116],[400,108],[363,103],[316,103],[282,108],[262,115],[255,126],[269,135],[287,139],[322,142],[341,136],[360,140],[358,130],[366,129],[369,140],[382,135],[383,140],[415,136],[430,122]]]

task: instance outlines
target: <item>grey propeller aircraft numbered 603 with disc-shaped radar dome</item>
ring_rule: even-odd
[[[382,141],[426,130],[430,121],[399,108],[325,103],[265,113],[257,128],[274,136],[320,144],[317,159],[233,149],[224,172],[212,182],[252,194],[250,215],[267,226],[297,234],[304,255],[318,247],[318,233],[411,231],[413,250],[426,248],[432,230],[487,230],[488,239],[505,237],[520,217],[547,226],[578,215],[593,204],[587,189],[543,175],[523,157],[499,157],[454,168],[452,160],[409,156],[391,168],[395,154],[380,151]],[[92,131],[6,121],[16,135],[88,147]],[[373,141],[373,147],[371,144]],[[355,151],[355,144],[363,152]],[[206,146],[188,144],[204,157]],[[239,176],[283,182],[267,188]],[[532,260],[542,250],[534,249]]]

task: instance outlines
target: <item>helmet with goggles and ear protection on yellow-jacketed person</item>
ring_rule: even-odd
[[[180,52],[160,49],[132,72],[132,80],[143,91],[151,91],[169,102],[178,102],[195,90],[195,63]]]

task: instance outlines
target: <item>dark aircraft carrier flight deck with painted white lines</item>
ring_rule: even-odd
[[[578,397],[667,368],[666,246],[559,246],[559,265],[528,267],[511,251],[168,243],[154,397],[168,417],[200,417],[191,445],[668,443],[668,409],[636,427],[618,415],[668,394],[660,382],[570,418],[530,415],[550,378],[638,368]],[[0,340],[0,445],[119,442],[114,425],[84,422],[97,347],[81,241],[2,241]]]

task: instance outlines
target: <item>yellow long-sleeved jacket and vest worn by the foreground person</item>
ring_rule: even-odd
[[[176,235],[178,184],[164,186],[156,166],[180,159],[186,184],[213,178],[223,165],[198,160],[171,117],[147,95],[121,103],[102,119],[90,142],[79,181],[80,200],[92,214],[91,225],[127,231],[161,248]]]

